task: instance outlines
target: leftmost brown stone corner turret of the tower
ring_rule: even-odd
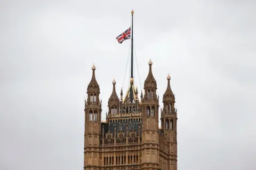
[[[96,67],[92,66],[92,79],[87,87],[85,101],[84,169],[99,169],[99,147],[101,128],[100,87],[95,78]]]

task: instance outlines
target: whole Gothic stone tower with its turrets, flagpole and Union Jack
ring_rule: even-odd
[[[108,99],[106,121],[101,120],[100,87],[92,67],[91,82],[85,101],[84,169],[177,170],[177,109],[167,76],[163,95],[161,127],[158,127],[159,96],[149,61],[144,95],[138,96],[133,77],[133,14],[132,26],[117,36],[118,43],[131,39],[131,76],[128,90],[118,98],[116,80]],[[128,62],[128,61],[127,61]],[[139,72],[139,71],[138,71]],[[111,89],[110,89],[111,90]]]

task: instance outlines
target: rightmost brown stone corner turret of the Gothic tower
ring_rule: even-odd
[[[174,108],[175,97],[170,86],[170,75],[167,76],[167,88],[163,95],[161,127],[169,145],[169,166],[177,170],[177,109]]]

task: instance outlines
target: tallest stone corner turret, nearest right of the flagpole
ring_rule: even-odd
[[[141,169],[159,168],[157,84],[152,73],[153,62],[149,61],[149,72],[144,83],[145,95],[142,99],[142,145]]]

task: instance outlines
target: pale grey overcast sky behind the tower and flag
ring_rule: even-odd
[[[170,72],[178,169],[256,169],[255,1],[1,1],[0,169],[83,169],[92,64],[105,118],[123,87],[134,10],[135,84]],[[127,90],[129,68],[124,92]],[[139,81],[140,77],[140,81]]]

